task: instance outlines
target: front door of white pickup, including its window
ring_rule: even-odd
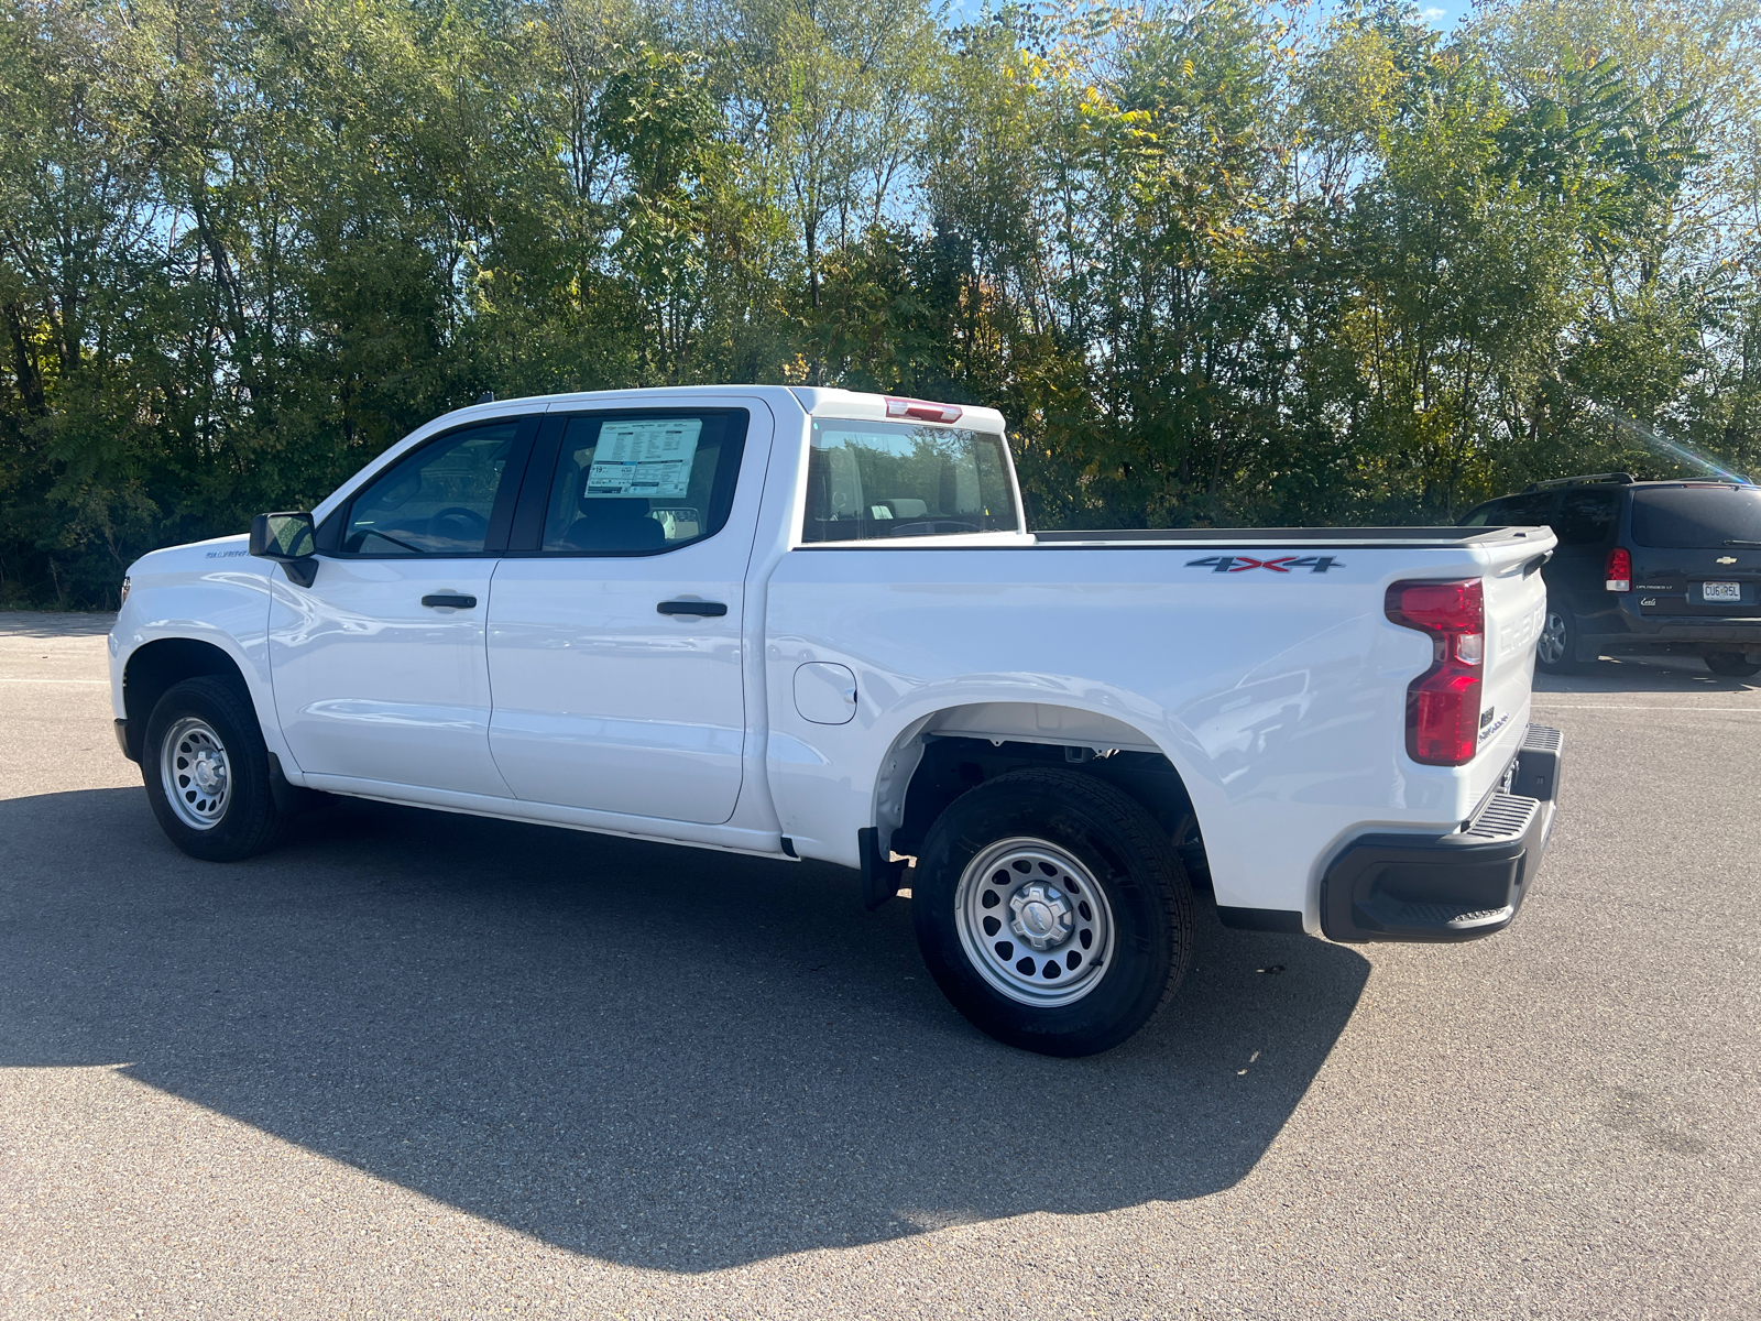
[[[484,618],[535,432],[512,417],[442,433],[326,518],[310,588],[275,572],[269,669],[301,771],[509,796]]]

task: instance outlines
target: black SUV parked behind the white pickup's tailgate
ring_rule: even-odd
[[[1761,671],[1761,486],[1634,481],[1625,472],[1536,483],[1488,500],[1467,527],[1546,525],[1541,669],[1603,652],[1705,657],[1713,675]]]

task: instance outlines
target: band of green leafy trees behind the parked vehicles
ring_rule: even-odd
[[[983,402],[1041,527],[1761,467],[1754,0],[1291,12],[0,0],[0,604],[484,389]]]

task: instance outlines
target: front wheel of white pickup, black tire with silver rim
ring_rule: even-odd
[[[167,764],[169,740],[178,747],[169,749]],[[222,773],[197,782],[199,757],[204,775],[213,764]],[[190,858],[232,863],[280,840],[285,823],[269,789],[269,750],[250,697],[234,683],[204,675],[166,690],[146,722],[141,779],[160,830]],[[173,793],[181,805],[171,801]]]

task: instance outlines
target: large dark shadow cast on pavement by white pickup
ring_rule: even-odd
[[[1118,1050],[1000,1046],[854,875],[347,805],[243,865],[0,801],[0,1064],[118,1064],[551,1244],[711,1270],[1245,1177],[1368,963],[1229,932]]]

